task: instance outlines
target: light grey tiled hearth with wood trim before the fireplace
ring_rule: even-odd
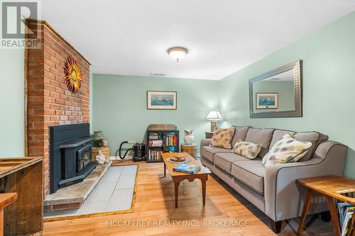
[[[45,221],[132,212],[138,165],[111,166],[79,209],[44,213]]]

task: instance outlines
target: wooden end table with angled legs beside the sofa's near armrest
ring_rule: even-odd
[[[305,203],[302,210],[300,225],[298,225],[297,235],[301,234],[303,230],[303,225],[305,225],[305,219],[307,216],[308,209],[310,208],[313,192],[320,193],[323,196],[327,197],[335,235],[342,235],[337,213],[337,206],[335,205],[334,201],[343,201],[355,206],[355,198],[350,198],[339,193],[355,191],[355,180],[346,178],[344,176],[322,176],[307,179],[297,179],[297,182],[307,188],[307,196],[305,198]],[[351,228],[354,227],[354,223],[355,217],[351,218],[349,231],[346,235],[355,235],[355,230],[352,230],[351,232]]]

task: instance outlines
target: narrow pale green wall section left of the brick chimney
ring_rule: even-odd
[[[0,157],[23,157],[24,51],[0,50],[0,67]]]

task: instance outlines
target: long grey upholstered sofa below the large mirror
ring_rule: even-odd
[[[312,142],[312,147],[299,162],[264,167],[262,157],[286,133],[297,140]],[[305,189],[296,179],[343,174],[347,147],[328,141],[327,135],[322,133],[236,126],[232,145],[238,140],[261,143],[258,157],[251,160],[231,150],[209,146],[210,140],[206,139],[201,141],[201,162],[268,215],[274,232],[280,232],[282,220],[296,218],[302,213]],[[314,196],[310,213],[327,210],[326,199]]]

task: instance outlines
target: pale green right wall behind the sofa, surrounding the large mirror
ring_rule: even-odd
[[[223,125],[317,130],[349,146],[346,176],[355,177],[355,12],[220,81]],[[248,80],[302,60],[303,117],[249,118]]]

